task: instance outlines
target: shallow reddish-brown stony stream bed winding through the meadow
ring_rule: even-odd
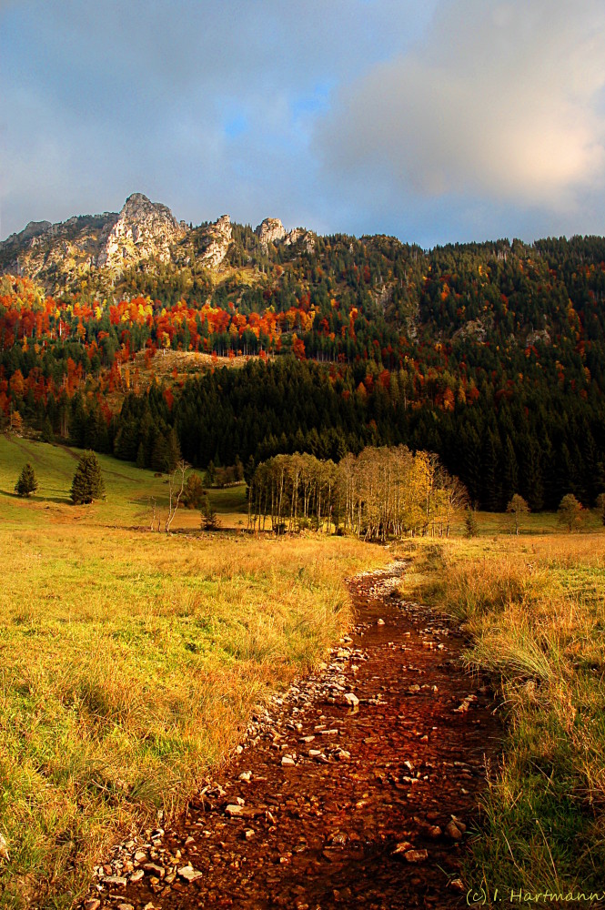
[[[403,570],[351,583],[358,625],[331,662],[257,715],[173,828],[116,848],[87,910],[466,905],[499,723],[457,628],[400,602]]]

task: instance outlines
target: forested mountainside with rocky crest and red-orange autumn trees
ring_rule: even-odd
[[[604,238],[426,251],[277,218],[189,227],[135,194],[29,225],[0,247],[16,266],[5,423],[147,467],[171,432],[198,467],[404,443],[490,510],[605,491]]]

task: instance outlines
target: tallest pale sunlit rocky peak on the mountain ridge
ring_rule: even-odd
[[[141,259],[170,260],[170,248],[185,236],[185,229],[169,208],[150,202],[142,193],[126,199],[116,223],[102,238],[98,268],[116,272]]]

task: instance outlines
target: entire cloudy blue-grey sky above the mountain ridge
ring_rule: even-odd
[[[605,234],[602,0],[0,0],[0,238],[198,224]]]

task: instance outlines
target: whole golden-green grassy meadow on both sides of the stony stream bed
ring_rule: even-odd
[[[470,667],[501,692],[469,886],[603,890],[605,531],[554,515],[479,514],[449,540],[381,548],[243,531],[243,487],[162,527],[167,481],[99,456],[106,500],[73,506],[77,452],[0,437],[0,907],[66,908],[105,844],[176,810],[237,742],[255,703],[348,622],[343,579],[406,554],[402,591],[457,616]],[[29,460],[39,489],[15,496]],[[464,756],[460,756],[462,759]]]

